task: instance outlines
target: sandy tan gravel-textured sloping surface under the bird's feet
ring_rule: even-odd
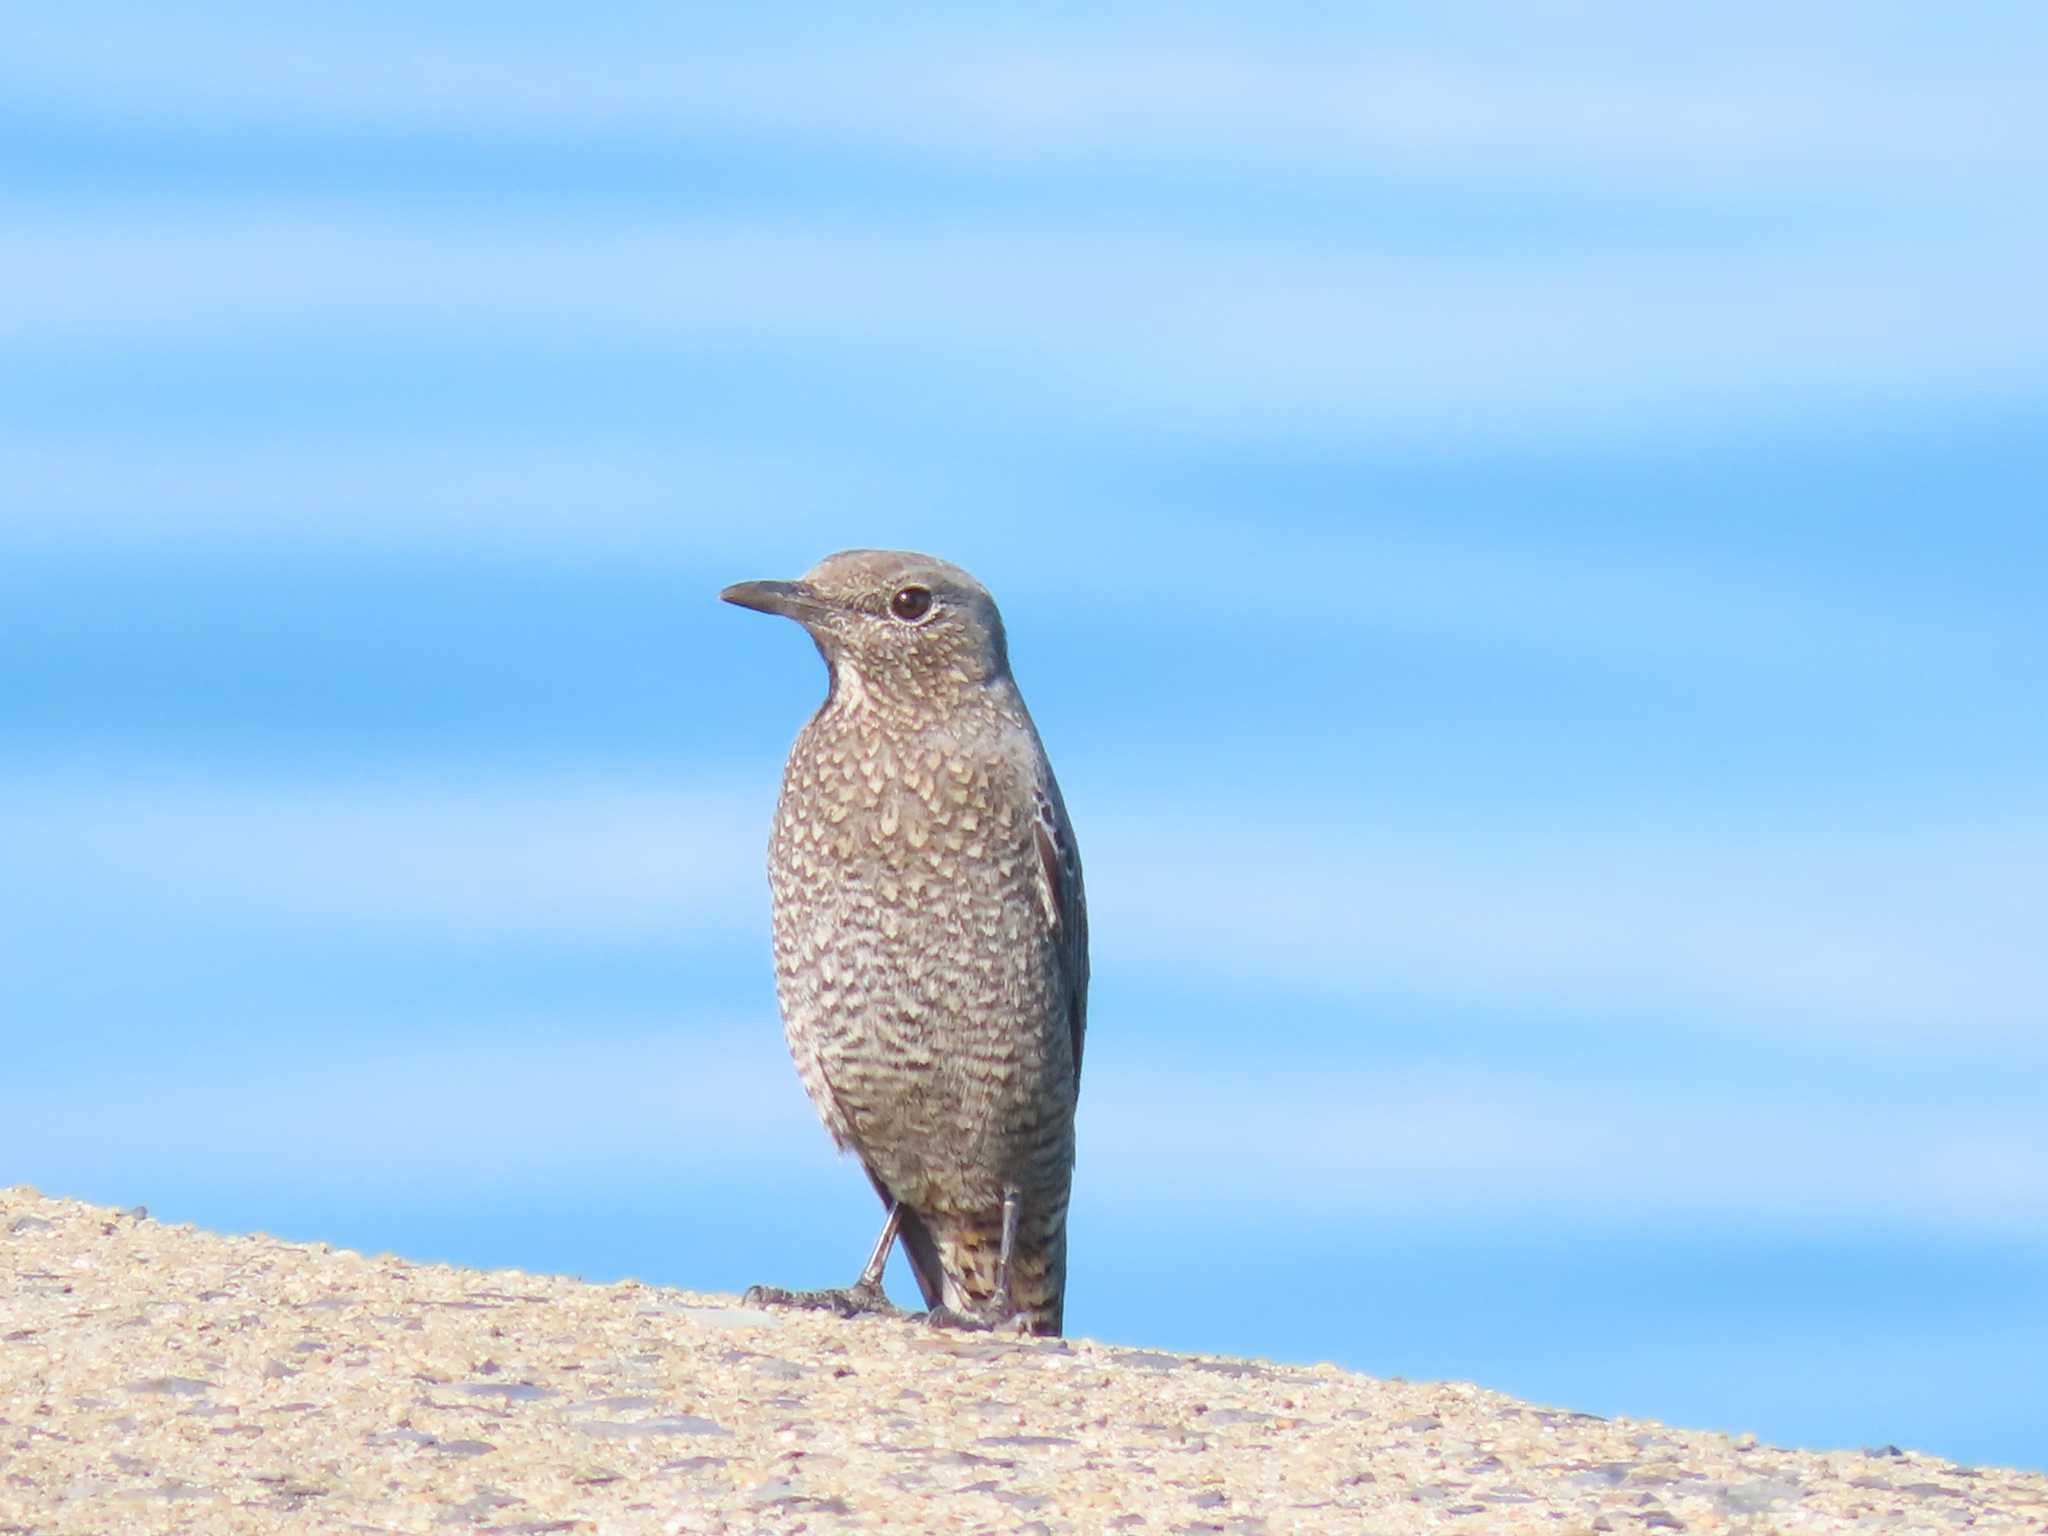
[[[2048,1530],[2048,1479],[0,1192],[0,1532]]]

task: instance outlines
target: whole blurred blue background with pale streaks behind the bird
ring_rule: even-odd
[[[0,1182],[844,1282],[725,582],[979,573],[1075,1331],[2048,1464],[2036,4],[68,4]],[[899,1294],[909,1294],[901,1270]]]

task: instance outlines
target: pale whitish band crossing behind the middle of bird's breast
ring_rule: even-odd
[[[643,778],[16,778],[0,846],[39,907],[266,932],[565,942],[766,926],[774,786]],[[1686,1018],[1731,1040],[1999,1049],[2048,1022],[2023,807],[1919,827],[1368,831],[1165,799],[1087,807],[1098,973],[1286,997]]]

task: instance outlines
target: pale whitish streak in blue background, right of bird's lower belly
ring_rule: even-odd
[[[2048,1217],[2048,1130],[2009,1104],[1694,1087],[1565,1061],[1518,1075],[1333,1055],[1305,1071],[1196,1051],[1161,1061],[1149,1044],[1100,1067],[1083,1092],[1081,1198],[1106,1210],[2025,1235]]]

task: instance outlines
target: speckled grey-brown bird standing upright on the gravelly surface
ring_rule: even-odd
[[[768,840],[776,1001],[811,1104],[883,1202],[852,1286],[748,1296],[893,1311],[901,1239],[932,1323],[1059,1335],[1087,901],[995,600],[893,549],[719,596],[795,618],[829,676]]]

